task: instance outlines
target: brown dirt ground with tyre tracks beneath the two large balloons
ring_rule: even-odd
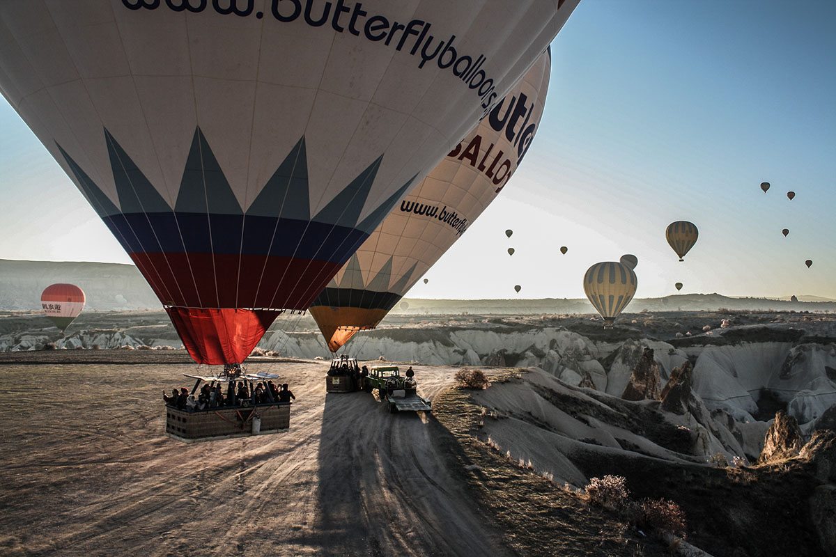
[[[503,554],[446,430],[326,394],[326,366],[248,366],[290,383],[288,432],[184,444],[161,394],[196,366],[0,365],[0,554]],[[419,392],[454,371],[416,367]]]

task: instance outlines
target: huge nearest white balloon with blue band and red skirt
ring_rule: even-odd
[[[281,311],[308,308],[577,3],[3,2],[0,90],[191,357],[242,362]],[[502,163],[492,174],[504,179]]]

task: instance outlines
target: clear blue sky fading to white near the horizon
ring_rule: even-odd
[[[836,298],[833,28],[829,0],[581,0],[525,160],[407,297],[583,297],[632,253],[637,297]],[[0,199],[0,259],[130,263],[3,99]],[[700,230],[684,262],[674,220]]]

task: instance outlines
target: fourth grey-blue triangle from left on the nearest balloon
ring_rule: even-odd
[[[308,155],[302,136],[247,209],[247,215],[310,220]]]

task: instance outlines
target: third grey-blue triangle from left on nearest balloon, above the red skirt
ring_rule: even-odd
[[[242,215],[241,205],[198,126],[175,205],[177,212]]]

